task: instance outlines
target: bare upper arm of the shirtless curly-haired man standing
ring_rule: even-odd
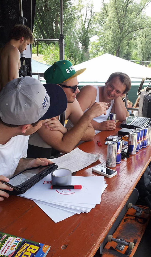
[[[8,55],[8,81],[19,78],[18,64],[20,63],[20,52],[13,48]]]

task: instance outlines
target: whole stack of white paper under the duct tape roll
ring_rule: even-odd
[[[90,212],[100,204],[107,187],[103,176],[72,176],[72,185],[82,185],[82,189],[50,189],[49,174],[20,196],[33,200],[54,222],[59,222],[76,213]]]

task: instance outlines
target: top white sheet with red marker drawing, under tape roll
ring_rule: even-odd
[[[40,201],[100,204],[104,186],[103,176],[72,176],[72,185],[82,185],[82,189],[53,190],[50,189],[50,184],[44,183],[44,181],[51,181],[51,174],[40,180],[21,196]]]

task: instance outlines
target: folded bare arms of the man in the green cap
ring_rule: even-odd
[[[58,151],[68,153],[80,140],[93,140],[95,131],[90,125],[91,120],[96,117],[96,113],[105,113],[106,107],[104,104],[95,103],[86,113],[83,114],[79,103],[75,100],[74,103],[68,105],[69,119],[73,123],[73,127],[64,135],[60,131],[50,131],[45,125],[37,131],[41,138]]]

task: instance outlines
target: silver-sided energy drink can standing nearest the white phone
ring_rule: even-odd
[[[117,155],[117,142],[109,141],[107,144],[107,160],[106,160],[106,166],[108,168],[116,167],[116,155]]]

